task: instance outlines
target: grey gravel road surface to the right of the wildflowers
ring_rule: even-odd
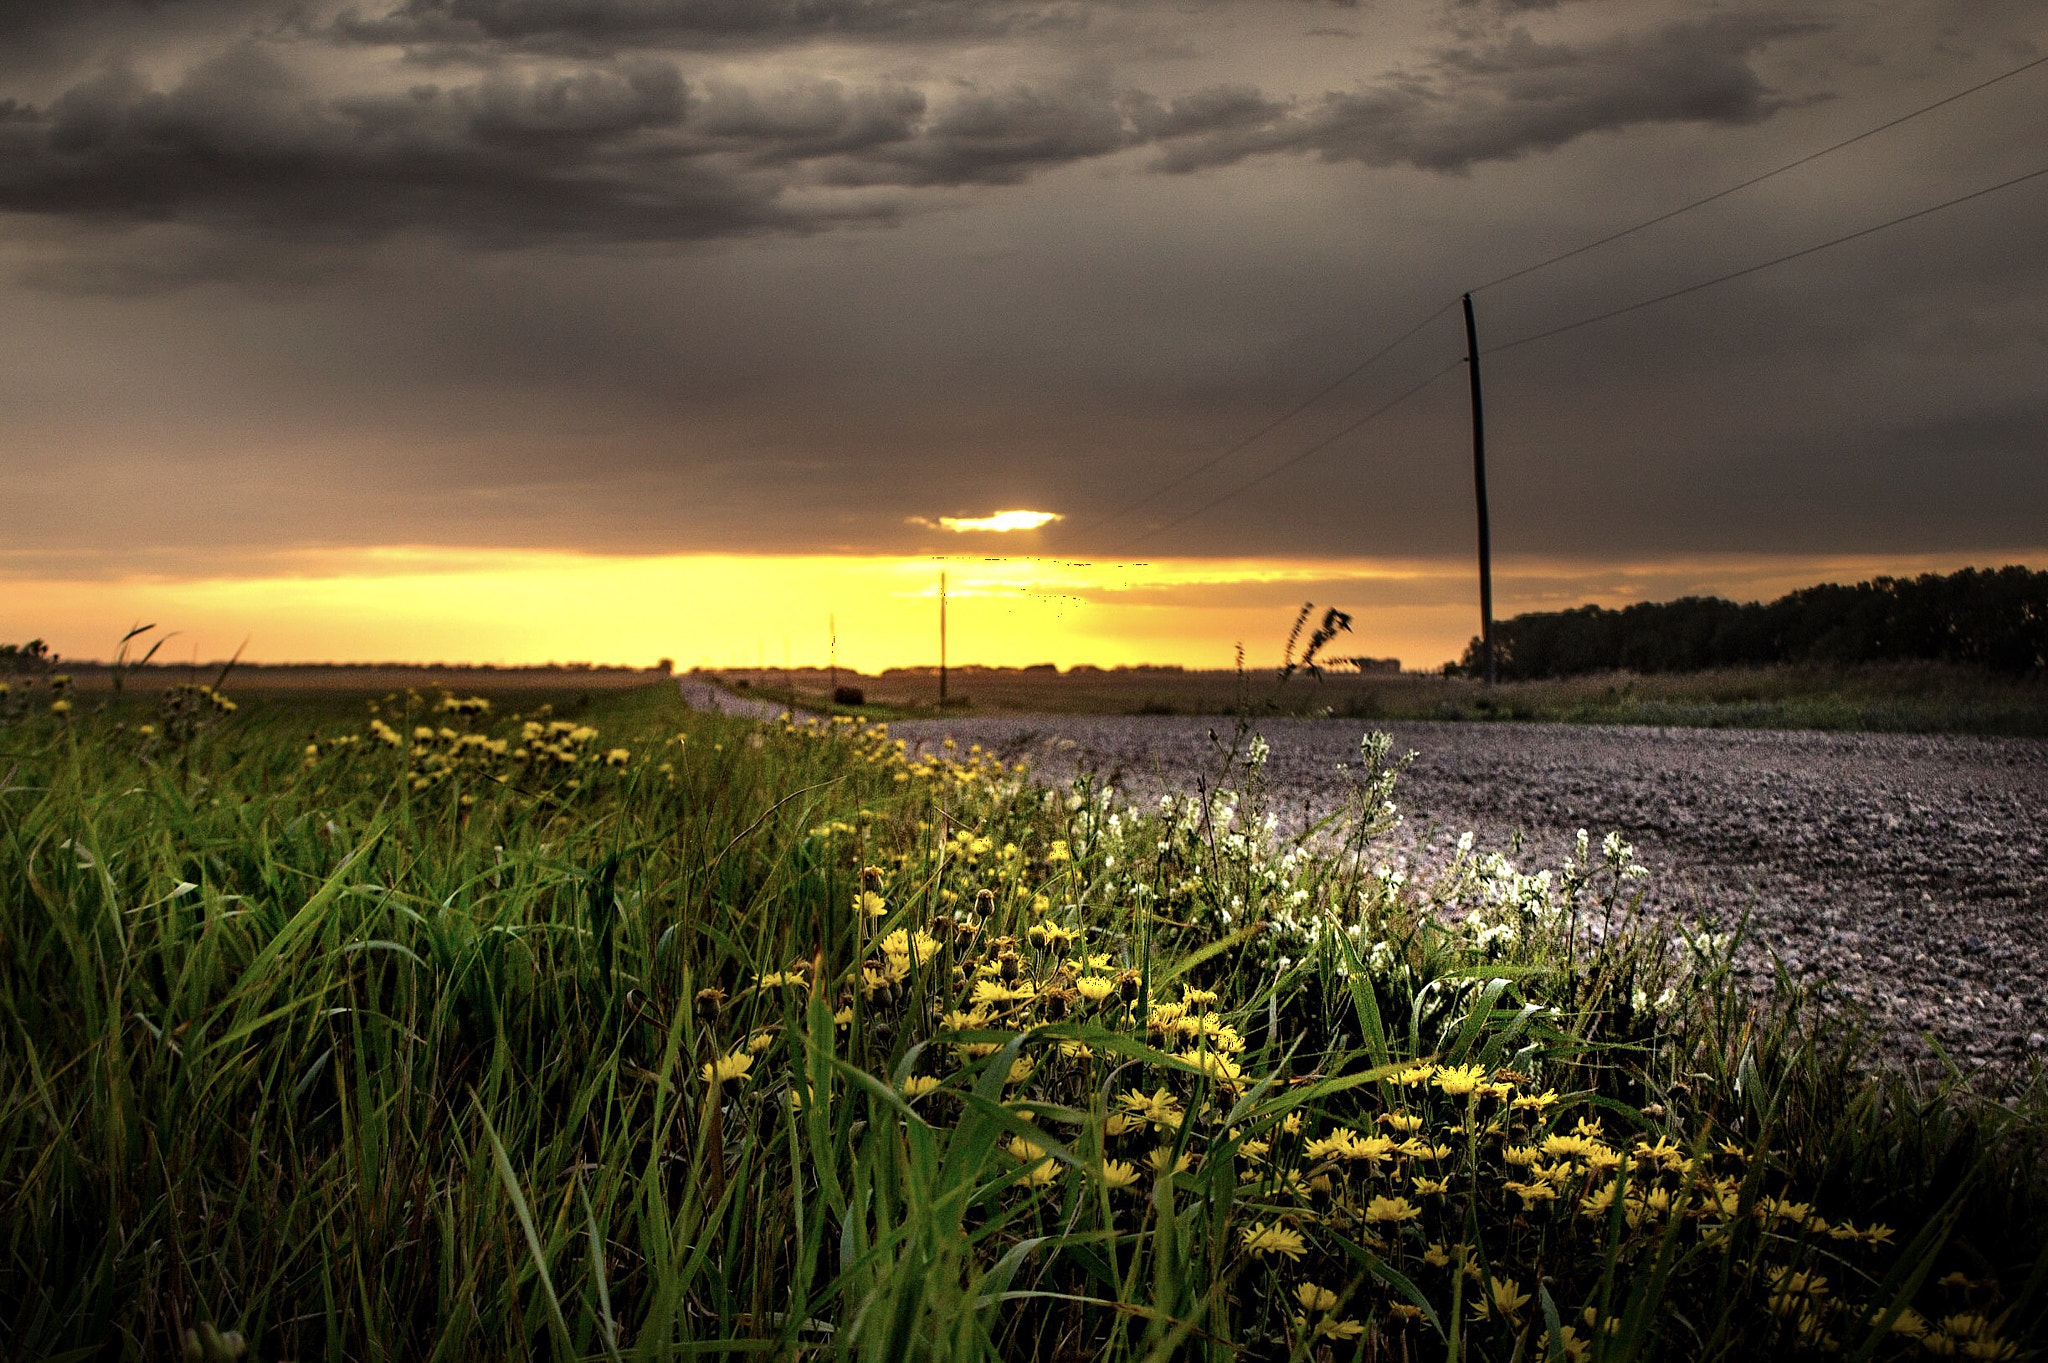
[[[1087,770],[1133,798],[1192,790],[1229,718],[954,718],[891,733]],[[1888,1058],[2001,1068],[2048,1058],[2048,743],[1872,733],[1391,722],[1413,749],[1397,792],[1427,862],[1470,829],[1522,833],[1524,870],[1577,829],[1620,831],[1651,868],[1645,907],[1731,927],[1745,913],[1759,986],[1776,954],[1833,1005],[1864,1005]],[[1333,808],[1358,720],[1260,720],[1284,819]],[[1298,825],[1296,825],[1298,827]]]

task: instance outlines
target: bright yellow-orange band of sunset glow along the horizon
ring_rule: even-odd
[[[1700,557],[1593,565],[1495,563],[1495,610],[1606,606],[1716,591],[1772,598],[1817,581],[1966,565],[2048,563],[2048,553],[1903,557]],[[1352,612],[1331,653],[1436,667],[1477,632],[1464,559],[584,555],[565,551],[352,548],[264,557],[236,575],[72,577],[0,561],[0,639],[45,639],[104,659],[135,622],[178,639],[160,659],[596,661],[678,667],[922,665],[938,653],[938,571],[950,581],[956,665],[1278,663],[1305,600]]]

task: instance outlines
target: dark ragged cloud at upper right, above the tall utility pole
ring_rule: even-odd
[[[1432,68],[1325,94],[1264,123],[1176,141],[1161,166],[1202,170],[1276,151],[1325,162],[1466,170],[1642,123],[1755,123],[1786,104],[1751,65],[1819,25],[1729,16],[1585,43],[1516,31],[1438,53]]]

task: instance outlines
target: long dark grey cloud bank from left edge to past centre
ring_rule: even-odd
[[[690,241],[887,217],[807,186],[1014,184],[1133,139],[1100,86],[809,80],[692,94],[674,63],[322,96],[256,43],[156,90],[111,65],[0,106],[0,211],[322,241],[432,229],[483,244]]]

